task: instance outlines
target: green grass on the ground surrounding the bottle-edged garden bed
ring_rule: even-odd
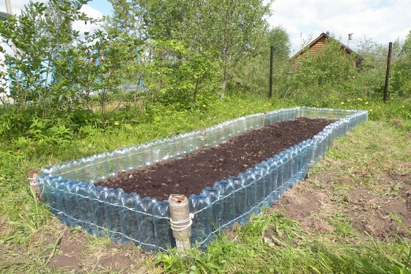
[[[70,235],[79,233],[64,230],[49,210],[36,202],[27,182],[28,169],[295,105],[293,101],[238,93],[209,103],[201,110],[186,112],[159,107],[151,121],[140,124],[119,121],[106,130],[86,127],[81,134],[58,142],[23,137],[0,141],[1,271],[55,273],[47,263],[60,252],[58,238],[62,231]],[[344,195],[358,185],[373,190],[381,171],[411,173],[410,108],[402,108],[403,103],[395,100],[385,105],[370,101],[368,105],[373,107],[372,121],[338,139],[336,147],[311,171],[333,172],[332,195],[338,203],[343,203]],[[351,178],[355,184],[336,183],[344,177]],[[401,186],[394,186],[390,191],[400,190]],[[331,234],[306,232],[301,223],[268,210],[247,225],[221,235],[206,251],[192,249],[184,258],[175,251],[159,253],[155,258],[142,257],[136,264],[145,273],[411,273],[411,237],[384,242],[371,236],[358,236],[351,216],[340,212],[330,214],[324,221],[333,228]],[[44,240],[48,236],[53,236],[49,242]],[[86,239],[85,256],[97,258],[110,245],[107,238]],[[94,260],[84,258],[84,262],[89,264],[84,273],[115,273],[102,270]],[[132,269],[128,271],[133,273]]]

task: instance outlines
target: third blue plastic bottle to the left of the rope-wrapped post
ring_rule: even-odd
[[[140,195],[132,192],[130,194],[121,195],[121,242],[132,240],[138,245],[140,241],[138,234],[137,221],[137,204],[140,201]]]

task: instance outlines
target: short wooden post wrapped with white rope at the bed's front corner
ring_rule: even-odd
[[[188,199],[184,195],[172,194],[169,197],[170,224],[177,251],[184,254],[190,249],[192,215],[188,210]]]

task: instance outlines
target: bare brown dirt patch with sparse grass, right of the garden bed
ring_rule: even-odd
[[[378,182],[371,186],[358,185],[357,176],[338,177],[333,171],[311,175],[284,193],[273,210],[299,221],[310,233],[336,232],[341,225],[336,225],[336,216],[341,216],[362,236],[411,238],[411,175],[373,175]],[[342,186],[348,189],[345,195],[336,191]]]

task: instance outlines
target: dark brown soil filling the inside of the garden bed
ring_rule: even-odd
[[[170,194],[199,195],[206,186],[245,172],[284,149],[312,138],[332,122],[307,118],[282,121],[181,159],[159,162],[132,173],[121,172],[96,185],[123,188],[127,193],[136,192],[141,197],[159,201],[168,199]]]

